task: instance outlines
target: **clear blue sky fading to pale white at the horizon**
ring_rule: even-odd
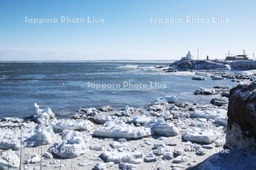
[[[255,7],[254,0],[2,0],[0,61],[180,59],[188,50],[197,58],[197,49],[200,59],[223,59],[229,50],[252,57]]]

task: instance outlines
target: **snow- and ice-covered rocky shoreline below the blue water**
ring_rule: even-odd
[[[195,74],[255,80],[255,74],[227,71]],[[229,88],[199,88],[194,95],[214,97],[207,105],[162,96],[146,108],[80,108],[64,119],[35,104],[31,117],[0,121],[0,169],[207,169],[209,156],[230,152],[230,144],[224,147],[233,121]]]

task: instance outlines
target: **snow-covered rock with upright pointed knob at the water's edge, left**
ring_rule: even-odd
[[[32,116],[32,119],[39,124],[55,119],[55,114],[50,108],[40,109],[39,105],[36,103],[34,104],[34,107],[34,115]]]

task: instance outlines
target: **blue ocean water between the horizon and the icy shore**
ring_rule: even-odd
[[[191,75],[160,73],[154,67],[170,62],[0,62],[0,118],[30,116],[34,103],[50,107],[59,117],[70,117],[80,107],[146,107],[166,95],[176,95],[180,101],[209,103],[212,96],[192,93],[199,87],[236,84],[229,79],[196,81]],[[124,87],[124,82],[131,85]]]

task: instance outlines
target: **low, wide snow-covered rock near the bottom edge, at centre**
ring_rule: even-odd
[[[113,163],[127,163],[132,159],[142,158],[143,154],[141,152],[131,152],[127,150],[123,150],[119,152],[117,150],[114,151],[105,151],[100,155],[100,158],[105,162],[113,162]]]

